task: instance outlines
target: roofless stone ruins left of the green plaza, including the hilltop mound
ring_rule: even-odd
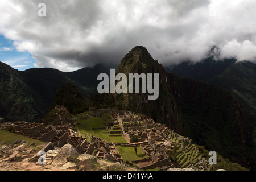
[[[92,142],[88,142],[87,138],[81,135],[76,136],[80,132],[72,129],[70,117],[67,118],[68,111],[64,106],[56,106],[51,111],[51,116],[47,119],[52,123],[27,123],[27,122],[6,122],[2,123],[1,130],[12,129],[15,134],[24,135],[42,142],[51,142],[55,147],[63,147],[65,144],[71,144],[79,154],[93,154],[101,159],[111,160],[114,162],[123,162],[121,154],[119,154],[115,144],[108,143],[106,140],[91,136]],[[94,117],[100,117],[102,111],[97,110]],[[86,118],[91,117],[87,114]],[[46,118],[44,118],[46,119]],[[49,123],[48,121],[46,123]]]

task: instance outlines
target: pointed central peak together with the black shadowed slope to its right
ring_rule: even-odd
[[[115,94],[118,107],[146,114],[208,150],[247,166],[251,157],[250,115],[230,92],[167,73],[141,46],[123,58],[115,75],[118,73],[159,73],[157,100],[148,100],[148,94]]]

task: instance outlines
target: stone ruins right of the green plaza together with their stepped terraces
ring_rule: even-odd
[[[130,145],[134,144],[131,139],[134,135],[139,137],[137,145],[148,157],[133,161],[140,169],[174,167],[166,153],[174,147],[179,148],[176,167],[195,169],[207,167],[206,160],[199,154],[197,146],[192,144],[192,140],[180,136],[168,129],[166,125],[155,123],[146,115],[134,114],[129,111],[116,111],[111,118],[114,122],[119,123],[122,135]]]

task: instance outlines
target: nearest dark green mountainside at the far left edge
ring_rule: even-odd
[[[0,63],[1,117],[6,121],[34,121],[45,114],[42,96],[28,86],[20,73],[9,65]]]

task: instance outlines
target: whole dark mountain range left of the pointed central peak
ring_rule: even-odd
[[[0,115],[6,121],[40,122],[61,86],[72,82],[86,97],[97,92],[98,74],[109,73],[109,69],[98,64],[68,73],[52,68],[18,71],[0,62]]]

